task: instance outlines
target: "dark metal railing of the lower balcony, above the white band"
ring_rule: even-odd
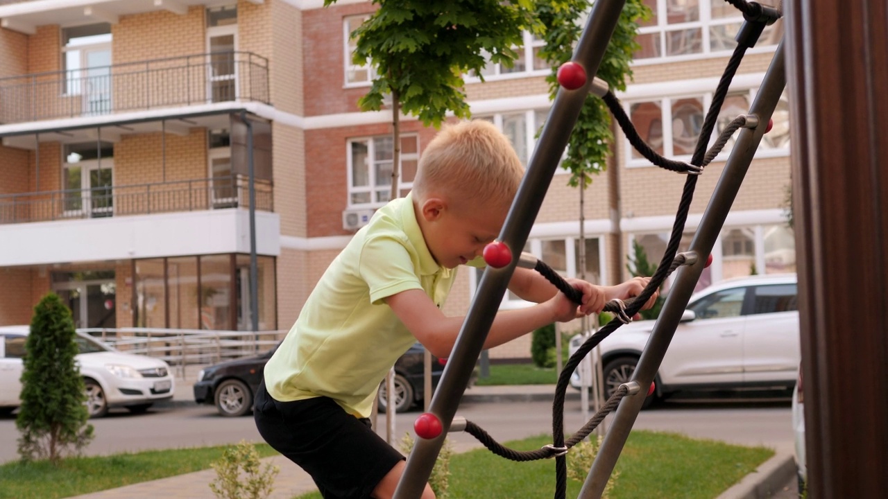
[[[274,210],[272,183],[256,180],[256,209]],[[175,211],[249,208],[242,175],[134,186],[100,186],[0,195],[0,224],[104,218]]]

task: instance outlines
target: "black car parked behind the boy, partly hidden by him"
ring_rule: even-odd
[[[262,369],[274,349],[255,357],[228,360],[203,368],[194,384],[194,400],[215,405],[222,416],[243,416],[253,408],[253,394],[262,379]],[[416,343],[394,365],[394,407],[406,412],[423,400],[423,345]],[[438,385],[446,360],[432,357],[432,387]],[[474,376],[472,376],[474,381]],[[379,408],[385,410],[385,384],[379,390]]]

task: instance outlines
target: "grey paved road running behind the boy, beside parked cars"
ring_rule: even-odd
[[[567,400],[565,429],[573,432],[584,421],[580,402]],[[419,413],[398,415],[395,434],[398,438],[412,430]],[[464,416],[485,428],[496,440],[514,440],[531,435],[551,433],[551,403],[539,402],[472,402],[464,403],[457,416]],[[610,420],[606,420],[606,424]],[[91,420],[96,439],[85,449],[86,455],[107,455],[145,449],[183,448],[226,445],[242,439],[260,441],[252,418],[218,416],[209,406],[157,408],[144,415],[131,415],[125,410]],[[385,432],[385,416],[377,422],[378,431]],[[718,403],[662,404],[660,408],[643,411],[634,428],[681,432],[696,438],[725,440],[741,445],[765,445],[789,450],[792,448],[789,402],[730,401]],[[0,418],[0,463],[16,459],[14,416]],[[451,435],[457,451],[477,447],[471,435]]]

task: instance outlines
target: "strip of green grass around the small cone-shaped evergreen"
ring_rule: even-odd
[[[52,499],[89,494],[153,479],[210,469],[225,447],[155,450],[103,457],[71,457],[56,468],[48,462],[0,465],[0,499]],[[276,455],[266,444],[262,457]],[[210,484],[207,483],[207,491]]]

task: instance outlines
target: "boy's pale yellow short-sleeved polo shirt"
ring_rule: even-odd
[[[276,400],[329,397],[369,417],[385,374],[416,338],[383,299],[423,289],[444,305],[456,269],[438,265],[416,223],[412,196],[377,210],[329,265],[265,368]]]

